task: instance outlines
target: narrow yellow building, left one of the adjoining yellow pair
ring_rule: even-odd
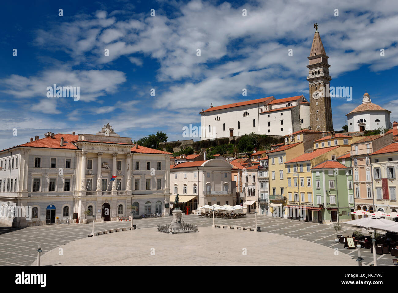
[[[304,144],[285,142],[285,145],[275,148],[269,152],[269,211],[274,217],[286,217],[284,206],[286,206],[286,170],[285,162],[293,159],[298,154],[304,153]]]

